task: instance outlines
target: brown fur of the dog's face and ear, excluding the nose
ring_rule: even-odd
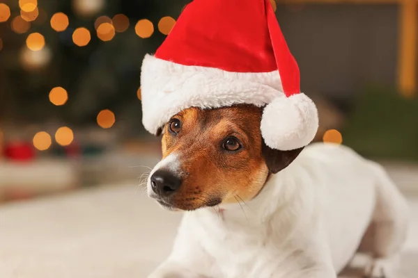
[[[269,172],[279,172],[302,150],[281,152],[267,147],[260,131],[262,113],[262,108],[238,105],[188,108],[174,115],[164,126],[162,153],[163,161],[169,155],[176,157],[181,185],[160,200],[194,210],[254,198]],[[225,142],[231,138],[238,140],[239,149],[226,149]]]

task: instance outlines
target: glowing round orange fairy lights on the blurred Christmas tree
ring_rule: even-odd
[[[95,15],[104,6],[104,0],[73,0],[73,8],[79,15]],[[36,68],[39,65],[48,63],[51,58],[51,51],[47,46],[44,35],[41,33],[29,33],[32,24],[47,22],[57,33],[67,31],[70,28],[70,19],[65,13],[54,13],[50,17],[45,10],[38,7],[38,0],[19,0],[20,14],[12,16],[11,9],[6,3],[0,3],[0,23],[10,24],[10,28],[17,34],[26,34],[26,47],[22,49],[20,58],[22,65],[27,69]],[[72,32],[72,42],[77,47],[85,47],[91,42],[92,35],[103,42],[113,40],[117,33],[123,33],[128,30],[131,22],[123,14],[117,14],[113,17],[102,15],[97,17],[94,22],[94,32],[92,33],[88,26],[79,26]],[[160,33],[168,35],[176,24],[173,17],[162,17],[157,23],[157,29]],[[139,38],[150,38],[155,32],[153,22],[148,19],[140,19],[134,25],[134,31]],[[0,51],[4,42],[0,38]],[[63,87],[52,88],[49,91],[49,101],[55,106],[63,106],[68,101],[68,92]],[[137,97],[141,99],[141,88],[137,90]],[[102,129],[110,129],[114,126],[116,117],[109,109],[100,111],[97,115],[97,124]],[[1,131],[0,131],[1,134]],[[74,133],[68,126],[62,126],[54,134],[55,141],[61,146],[71,145],[74,140]],[[49,149],[52,145],[52,136],[46,131],[38,131],[33,136],[33,146],[40,151]]]

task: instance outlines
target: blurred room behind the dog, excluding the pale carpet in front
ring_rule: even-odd
[[[141,124],[141,60],[188,2],[0,0],[1,203],[140,183],[160,158]],[[418,190],[415,1],[272,4],[318,105],[316,141],[353,147]]]

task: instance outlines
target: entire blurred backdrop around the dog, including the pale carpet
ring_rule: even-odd
[[[0,0],[1,277],[146,277],[169,254],[180,215],[139,186],[161,157],[140,68],[189,1]],[[418,0],[271,1],[315,140],[385,165],[418,215]]]

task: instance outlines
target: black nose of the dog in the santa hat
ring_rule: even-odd
[[[181,185],[179,177],[165,170],[157,170],[150,180],[153,191],[161,197],[168,197],[175,193]]]

